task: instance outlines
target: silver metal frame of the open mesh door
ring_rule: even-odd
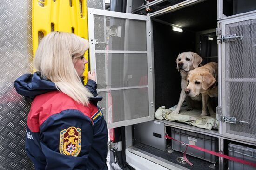
[[[146,21],[146,39],[147,39],[147,51],[108,51],[108,53],[146,53],[147,54],[147,65],[148,65],[148,106],[149,106],[149,116],[143,118],[136,118],[131,120],[123,120],[114,123],[108,123],[108,129],[121,127],[121,126],[128,126],[133,125],[141,122],[146,122],[150,120],[154,120],[154,98],[153,98],[153,64],[152,64],[152,50],[151,50],[151,20],[149,16],[137,15],[137,14],[130,14],[130,13],[120,13],[114,11],[105,11],[99,9],[88,8],[88,31],[89,31],[89,44],[90,44],[90,66],[91,68],[95,68],[96,73],[96,53],[105,53],[107,51],[99,51],[95,50],[95,37],[94,37],[94,15],[101,15],[101,16],[108,16],[108,17],[115,17],[115,18],[122,18],[122,19],[135,19],[135,20],[142,20]],[[97,80],[97,74],[96,74]],[[136,88],[136,87],[135,87]],[[128,87],[123,88],[115,88],[116,89],[131,89]],[[99,89],[98,91],[111,91],[111,88],[108,90]]]

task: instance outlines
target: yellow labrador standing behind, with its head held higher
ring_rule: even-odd
[[[187,101],[187,104],[190,103],[189,101],[191,101],[191,99],[188,99],[188,97],[186,98],[186,94],[184,91],[184,89],[187,87],[187,84],[188,84],[187,76],[189,74],[189,71],[197,68],[201,62],[202,62],[202,57],[200,57],[195,52],[183,52],[178,55],[178,57],[176,59],[176,63],[177,63],[177,69],[180,72],[181,77],[182,77],[182,80],[181,80],[182,90],[181,90],[178,105],[172,113],[180,112],[182,103],[185,101],[185,99]],[[195,97],[192,100],[201,101],[201,97]],[[192,106],[189,106],[189,109],[192,109],[190,107],[192,107]]]

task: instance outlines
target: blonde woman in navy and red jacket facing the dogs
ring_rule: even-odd
[[[27,118],[26,151],[36,170],[107,170],[108,132],[97,101],[95,73],[81,78],[88,41],[71,33],[51,32],[34,58],[37,72],[14,82],[33,100]]]

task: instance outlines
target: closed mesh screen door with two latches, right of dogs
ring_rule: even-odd
[[[243,36],[222,43],[223,115],[249,123],[224,123],[224,134],[256,141],[256,16],[221,26],[222,35]]]

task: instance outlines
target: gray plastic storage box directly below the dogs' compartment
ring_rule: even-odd
[[[181,129],[172,128],[172,138],[185,142],[190,145],[199,146],[201,148],[208,149],[210,151],[218,151],[218,139],[215,137],[195,133],[195,132],[189,132],[184,131]],[[185,151],[186,146],[182,145],[181,143],[172,140],[172,149],[175,151]],[[195,148],[188,147],[186,154],[189,154],[194,157],[198,157],[200,159],[216,163],[217,156],[214,156],[212,154],[199,151]]]

